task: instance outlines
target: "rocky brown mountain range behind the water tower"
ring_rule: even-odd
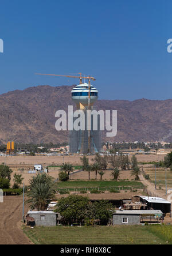
[[[56,131],[55,113],[68,111],[73,86],[30,87],[0,95],[0,141],[67,142],[68,131]],[[118,134],[103,141],[172,142],[172,99],[98,100],[97,110],[118,111]]]

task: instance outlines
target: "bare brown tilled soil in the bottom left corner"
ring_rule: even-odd
[[[0,244],[31,244],[19,227],[22,219],[22,197],[4,197],[0,203]]]

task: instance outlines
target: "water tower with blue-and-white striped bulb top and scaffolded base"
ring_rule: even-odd
[[[72,90],[72,100],[76,103],[77,110],[84,112],[83,130],[69,132],[69,147],[71,153],[98,153],[101,149],[100,119],[97,116],[97,130],[93,130],[93,116],[87,115],[87,110],[93,110],[98,99],[98,91],[91,84],[81,83]],[[75,118],[73,122],[75,122]],[[88,130],[88,122],[90,129]]]

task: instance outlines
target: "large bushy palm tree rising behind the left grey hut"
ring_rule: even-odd
[[[29,199],[26,204],[30,204],[32,210],[46,210],[55,194],[56,184],[53,178],[48,174],[38,174],[29,180],[27,193]]]

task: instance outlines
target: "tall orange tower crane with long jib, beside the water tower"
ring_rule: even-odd
[[[91,80],[96,81],[96,78],[92,77],[92,76],[82,76],[81,73],[77,73],[80,76],[69,76],[67,74],[40,74],[40,73],[36,73],[36,74],[40,75],[40,76],[79,78],[80,84],[83,84],[83,79],[88,79],[88,110],[89,110],[88,127],[90,128],[90,123],[91,123],[91,115],[90,115],[90,111],[91,111]],[[91,130],[90,129],[88,130],[88,150],[89,150],[89,153],[91,153]]]

